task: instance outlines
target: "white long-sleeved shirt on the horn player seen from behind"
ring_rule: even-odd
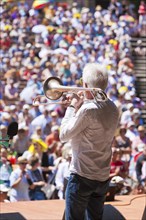
[[[67,108],[60,140],[71,141],[71,173],[98,181],[109,178],[111,143],[118,121],[119,112],[111,100],[86,100],[77,113],[73,107]]]

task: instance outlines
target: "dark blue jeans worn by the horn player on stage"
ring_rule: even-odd
[[[66,188],[65,220],[102,220],[109,180],[100,182],[71,174]]]

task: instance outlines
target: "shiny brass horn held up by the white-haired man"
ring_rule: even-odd
[[[43,91],[44,95],[38,95],[33,100],[33,105],[36,105],[36,101],[41,98],[47,98],[50,100],[50,102],[44,102],[40,103],[42,105],[48,105],[48,104],[66,104],[66,102],[63,101],[57,101],[59,100],[64,93],[78,93],[79,91],[90,91],[93,97],[96,101],[103,101],[105,102],[107,100],[106,93],[100,89],[100,88],[84,88],[84,87],[74,87],[74,86],[63,86],[63,83],[60,78],[58,77],[49,77],[46,79],[43,85]],[[95,95],[96,93],[96,95]],[[99,96],[100,98],[98,98]]]

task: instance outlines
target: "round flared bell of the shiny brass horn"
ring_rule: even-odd
[[[43,86],[45,96],[50,100],[59,99],[63,95],[62,91],[57,90],[60,85],[62,81],[58,77],[49,77]]]

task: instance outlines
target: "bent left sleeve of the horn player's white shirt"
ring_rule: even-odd
[[[87,127],[87,121],[86,111],[79,110],[79,112],[75,113],[74,108],[68,107],[60,127],[61,142],[67,142],[81,133]]]

